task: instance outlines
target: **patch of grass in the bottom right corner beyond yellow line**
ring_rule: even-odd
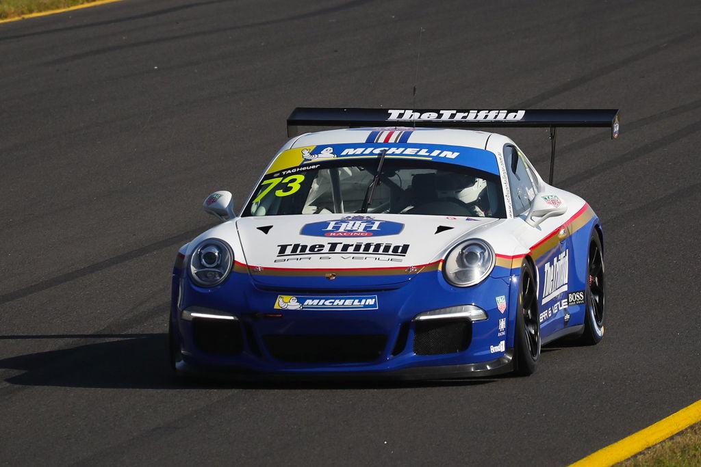
[[[644,466],[701,466],[701,423],[616,464],[616,467]]]

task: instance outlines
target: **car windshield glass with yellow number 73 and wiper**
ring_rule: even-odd
[[[336,160],[266,175],[243,216],[365,213],[377,158]],[[368,213],[505,218],[499,176],[445,162],[384,160]]]

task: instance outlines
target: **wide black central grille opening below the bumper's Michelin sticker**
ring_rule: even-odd
[[[266,335],[266,348],[282,361],[360,363],[374,361],[385,349],[386,335]]]

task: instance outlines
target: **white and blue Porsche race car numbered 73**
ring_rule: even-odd
[[[179,249],[179,375],[530,375],[541,345],[604,335],[599,218],[508,137],[465,127],[611,127],[618,111],[295,109],[236,214]],[[552,160],[551,175],[552,183]]]

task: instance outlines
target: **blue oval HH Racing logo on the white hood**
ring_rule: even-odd
[[[339,221],[324,221],[306,224],[301,235],[312,237],[380,237],[397,235],[404,229],[404,224],[381,221],[371,216],[346,216]]]

